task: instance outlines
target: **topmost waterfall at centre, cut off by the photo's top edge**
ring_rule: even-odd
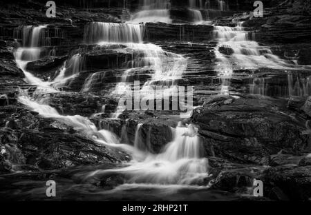
[[[141,10],[133,14],[130,23],[171,23],[169,14],[171,4],[169,0],[140,1]]]

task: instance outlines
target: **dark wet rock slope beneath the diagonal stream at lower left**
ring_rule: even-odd
[[[11,111],[14,114],[8,114],[12,117],[11,123],[6,123],[8,127],[0,131],[0,145],[7,154],[5,161],[15,166],[13,170],[32,170],[31,166],[54,170],[82,164],[118,163],[129,158],[120,150],[77,134],[59,121],[42,119],[16,107]]]

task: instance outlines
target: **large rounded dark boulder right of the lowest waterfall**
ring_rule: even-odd
[[[213,100],[214,99],[214,100]],[[303,152],[308,136],[303,123],[281,114],[276,103],[258,99],[215,96],[194,111],[207,154],[238,163],[267,164],[265,157],[288,149]]]

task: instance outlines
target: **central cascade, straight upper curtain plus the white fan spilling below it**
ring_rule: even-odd
[[[117,26],[117,28],[111,28],[111,26]],[[165,52],[158,45],[151,43],[142,43],[142,31],[138,24],[131,24],[135,30],[128,30],[128,24],[113,24],[110,23],[91,23],[86,27],[84,39],[88,43],[98,43],[100,45],[109,45],[111,43],[120,43],[126,46],[126,52],[132,52],[133,59],[129,61],[128,67],[122,76],[122,81],[117,83],[113,94],[120,96],[126,92],[131,91],[131,83],[128,81],[128,77],[133,72],[142,73],[145,71],[152,71],[151,80],[144,83],[141,96],[149,96],[148,92],[151,88],[156,86],[166,86],[169,89],[176,85],[176,81],[182,77],[182,74],[187,69],[187,59],[180,54],[173,54],[171,52]],[[135,26],[135,28],[134,28]],[[131,39],[120,39],[126,37],[125,34],[131,34]],[[115,38],[115,39],[112,39]],[[140,39],[133,39],[140,38]],[[98,79],[102,79],[104,73],[97,72],[88,76],[84,83],[82,92],[88,92],[92,89],[93,84],[97,83]],[[114,114],[111,114],[111,118],[117,118],[124,112],[124,107],[117,107]]]

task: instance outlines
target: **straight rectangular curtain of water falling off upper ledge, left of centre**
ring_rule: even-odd
[[[131,23],[88,23],[84,29],[86,43],[142,43],[143,26]]]

